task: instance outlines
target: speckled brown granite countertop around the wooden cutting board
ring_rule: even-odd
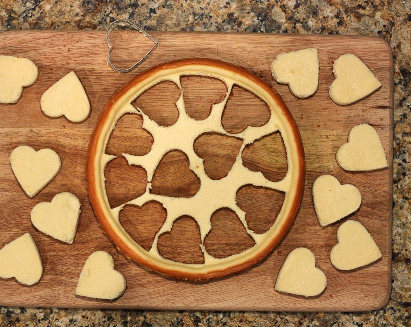
[[[390,301],[365,313],[264,313],[1,307],[0,326],[411,326],[411,2],[2,0],[0,31],[106,29],[128,19],[146,30],[371,35],[394,54],[393,277]]]

